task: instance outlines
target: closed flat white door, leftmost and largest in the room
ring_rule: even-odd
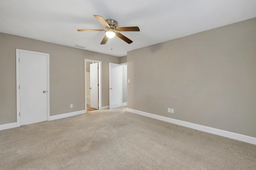
[[[20,125],[47,120],[47,55],[19,52]]]

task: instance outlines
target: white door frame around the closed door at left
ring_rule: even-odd
[[[36,51],[16,49],[16,117],[17,127],[20,127],[20,52],[46,55],[47,58],[47,121],[50,120],[50,54]]]

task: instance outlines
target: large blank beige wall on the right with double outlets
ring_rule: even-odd
[[[127,66],[128,108],[256,137],[256,18],[130,51]]]

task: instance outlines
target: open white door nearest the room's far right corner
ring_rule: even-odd
[[[122,106],[122,65],[109,63],[109,108]]]

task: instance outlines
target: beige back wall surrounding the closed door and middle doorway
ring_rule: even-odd
[[[109,63],[119,57],[0,33],[0,125],[16,122],[16,49],[50,54],[51,116],[84,110],[84,59],[102,61],[102,106],[109,105]]]

